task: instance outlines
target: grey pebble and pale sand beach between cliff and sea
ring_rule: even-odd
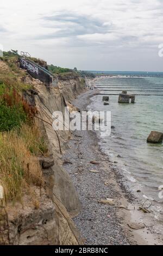
[[[85,110],[97,90],[80,94],[73,104]],[[65,169],[73,179],[82,203],[82,212],[74,218],[83,243],[87,245],[160,245],[162,241],[155,236],[150,226],[149,214],[137,211],[140,204],[122,183],[122,174],[115,168],[109,157],[102,152],[99,138],[93,131],[76,131],[66,151],[64,160],[71,161]],[[79,136],[79,137],[78,137]],[[82,136],[82,137],[81,137]],[[87,153],[87,154],[86,154]],[[90,164],[97,161],[99,165]],[[90,170],[98,173],[91,173]],[[114,199],[115,205],[102,205],[101,199]],[[128,206],[122,209],[120,206]],[[134,205],[134,206],[133,206]],[[135,210],[134,210],[135,207]],[[150,214],[151,215],[151,214]],[[145,228],[135,230],[131,222],[145,224]]]

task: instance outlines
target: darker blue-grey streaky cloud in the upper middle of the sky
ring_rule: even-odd
[[[111,22],[92,17],[90,15],[81,15],[78,13],[60,12],[52,16],[45,16],[43,27],[55,29],[54,33],[37,35],[36,39],[55,39],[79,36],[85,34],[103,34],[108,33],[113,28]]]

